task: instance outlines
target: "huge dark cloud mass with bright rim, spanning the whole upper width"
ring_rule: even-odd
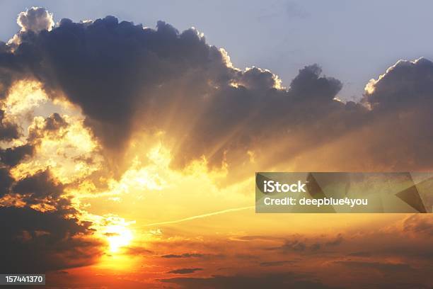
[[[39,14],[42,20],[34,21]],[[49,15],[30,16],[46,24]],[[175,167],[201,157],[209,166],[236,166],[250,151],[281,161],[356,132],[357,145],[340,145],[370,169],[431,167],[429,60],[400,61],[370,81],[362,104],[343,103],[335,99],[341,82],[322,76],[316,64],[285,89],[272,72],[232,67],[226,52],[207,45],[197,30],[179,33],[162,21],[151,29],[112,16],[63,19],[50,31],[23,28],[17,37],[20,45],[0,54],[4,88],[24,76],[42,81],[52,98],[79,105],[86,124],[115,152],[134,132],[163,130],[175,143]],[[279,150],[263,152],[269,142]]]

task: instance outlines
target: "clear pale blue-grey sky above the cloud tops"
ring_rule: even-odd
[[[433,57],[431,1],[1,1],[0,17],[31,6],[46,7],[54,21],[112,15],[152,28],[159,20],[196,27],[236,67],[270,69],[286,86],[301,67],[318,63],[342,81],[342,99],[361,98],[366,82],[396,60]],[[18,30],[4,22],[0,39]]]

